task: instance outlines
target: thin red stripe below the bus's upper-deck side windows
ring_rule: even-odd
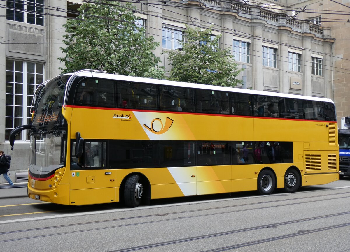
[[[228,114],[205,114],[205,113],[190,113],[182,111],[162,111],[162,110],[144,110],[144,109],[128,109],[128,108],[104,108],[104,107],[88,107],[77,105],[66,105],[69,108],[84,108],[84,109],[104,109],[104,110],[120,110],[120,111],[137,111],[137,112],[153,112],[153,113],[167,113],[167,114],[185,114],[185,115],[207,115],[207,116],[227,116],[227,117],[241,117],[241,118],[259,118],[259,119],[274,119],[274,120],[291,120],[291,121],[308,121],[308,122],[324,122],[324,123],[336,123],[336,121],[318,121],[307,119],[293,119],[293,118],[280,118],[280,117],[264,117],[264,116],[245,116],[245,115],[228,115]]]

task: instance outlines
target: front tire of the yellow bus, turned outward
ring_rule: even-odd
[[[134,174],[126,179],[124,187],[124,202],[128,207],[138,207],[143,195],[141,177]]]

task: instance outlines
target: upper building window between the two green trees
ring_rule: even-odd
[[[183,35],[184,32],[180,27],[163,26],[162,47],[181,51],[182,45],[180,42],[183,41]]]

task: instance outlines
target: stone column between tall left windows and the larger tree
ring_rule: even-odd
[[[48,9],[49,14],[65,16],[66,13],[62,12],[67,11],[67,1],[64,0],[55,0],[50,2],[51,6],[57,7],[56,9]],[[60,62],[58,57],[65,57],[65,54],[62,52],[60,47],[65,47],[62,40],[62,35],[65,34],[65,28],[63,24],[66,23],[67,19],[58,16],[45,15],[45,26],[47,30],[47,60],[45,64],[45,76],[44,78],[51,79],[61,73],[61,70],[58,67],[64,67],[64,63]]]

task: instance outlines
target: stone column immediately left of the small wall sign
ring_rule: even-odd
[[[279,68],[279,90],[281,93],[289,93],[289,63],[288,63],[288,34],[292,32],[289,27],[280,27],[279,30],[279,56],[278,56],[278,68]]]

